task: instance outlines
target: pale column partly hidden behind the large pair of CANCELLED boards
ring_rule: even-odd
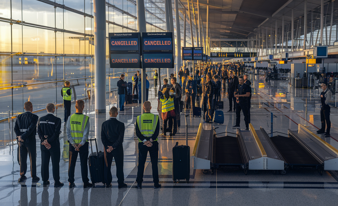
[[[144,0],[136,0],[136,6],[137,6],[137,31],[138,32],[147,32],[146,29],[146,13],[144,8]],[[161,75],[161,74],[160,74]],[[141,97],[142,97],[142,105],[146,101],[146,68],[142,68],[141,73]],[[142,114],[144,113],[144,110],[141,110]]]

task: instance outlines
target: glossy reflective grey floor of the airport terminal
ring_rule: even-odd
[[[290,88],[287,81],[274,81],[270,85],[263,85],[259,77],[251,77],[254,93],[251,99],[251,123],[256,128],[264,128],[268,133],[287,133],[287,129],[297,130],[297,124],[307,126],[311,131],[320,127],[320,104],[318,90]],[[319,92],[320,93],[320,92]],[[86,100],[84,113],[90,116],[90,137],[98,139],[99,150],[103,148],[100,141],[101,123],[108,118],[108,110],[116,106],[114,94],[107,95],[107,113],[95,115],[94,103]],[[149,100],[152,102],[152,113],[156,113],[157,97],[154,89],[149,91]],[[335,106],[335,96],[331,105]],[[207,124],[204,126],[219,127],[216,133],[222,137],[234,136],[236,129],[236,115],[234,112],[226,112],[229,103],[224,94],[224,124]],[[285,175],[274,175],[271,171],[249,171],[245,175],[238,168],[215,170],[214,173],[203,174],[201,170],[194,170],[190,164],[190,181],[173,183],[172,180],[172,147],[178,142],[185,144],[185,115],[188,124],[188,144],[190,152],[194,147],[198,125],[203,122],[200,117],[193,117],[190,111],[181,116],[181,128],[174,137],[159,138],[159,174],[162,188],[154,189],[151,176],[150,157],[146,162],[145,176],[142,189],[132,188],[136,184],[137,174],[137,138],[134,135],[134,123],[140,115],[140,106],[137,104],[127,105],[124,112],[120,112],[118,119],[125,124],[124,148],[124,176],[127,188],[117,188],[116,168],[112,167],[113,188],[82,187],[79,159],[75,168],[76,187],[68,188],[68,148],[66,135],[62,124],[63,133],[61,141],[60,176],[65,183],[62,188],[54,188],[50,164],[49,187],[43,187],[42,181],[32,183],[28,177],[25,183],[19,184],[19,165],[17,162],[17,145],[9,145],[11,134],[8,125],[0,124],[0,205],[336,205],[338,194],[338,174],[336,171],[325,171],[320,176],[317,170],[294,169],[288,170]],[[74,111],[73,111],[74,110]],[[72,112],[75,106],[72,105]],[[272,113],[272,114],[271,114]],[[45,111],[36,113],[39,116],[46,114]],[[62,118],[63,108],[58,108],[55,113]],[[271,122],[271,115],[272,121]],[[241,118],[241,126],[244,127],[244,118]],[[338,148],[338,118],[337,109],[331,108],[331,137],[320,137]],[[278,133],[274,133],[278,134]],[[38,139],[38,137],[37,137]],[[39,146],[40,141],[37,141]],[[91,150],[91,148],[90,148]],[[95,146],[93,145],[95,151]],[[41,151],[37,150],[37,171],[41,177]],[[29,168],[29,165],[28,165]],[[29,174],[28,170],[28,174]]]

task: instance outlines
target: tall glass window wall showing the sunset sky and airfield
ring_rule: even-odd
[[[175,18],[173,0],[172,7]],[[145,0],[145,9],[147,32],[166,31],[164,0]],[[181,4],[179,10],[183,46]],[[0,1],[0,120],[24,112],[26,101],[33,103],[34,111],[50,102],[62,104],[65,80],[74,87],[77,99],[87,97],[87,90],[94,84],[93,15],[93,0]],[[189,21],[186,26],[188,47]],[[139,70],[110,68],[109,32],[137,32],[135,0],[106,0],[106,91],[116,88],[121,73],[131,81]],[[148,77],[152,70],[147,68]],[[166,72],[163,69],[161,73]]]

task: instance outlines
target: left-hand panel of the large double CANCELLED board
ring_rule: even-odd
[[[141,33],[109,33],[110,68],[141,68]]]

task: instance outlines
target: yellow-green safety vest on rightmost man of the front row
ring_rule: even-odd
[[[159,116],[152,113],[144,113],[142,115],[137,116],[137,125],[141,131],[141,134],[146,137],[151,137],[155,133],[155,129],[157,126],[157,122],[159,120]],[[139,142],[142,142],[138,139]],[[157,141],[158,138],[156,138]]]

